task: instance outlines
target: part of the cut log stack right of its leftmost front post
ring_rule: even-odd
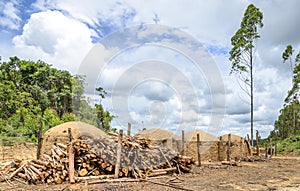
[[[195,160],[167,148],[123,137],[119,177],[145,178],[167,173],[190,172]],[[114,174],[117,140],[86,139],[75,142],[75,171],[78,176]],[[89,150],[85,149],[90,145]]]

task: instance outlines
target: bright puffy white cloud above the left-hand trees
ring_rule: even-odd
[[[14,37],[16,51],[25,58],[41,59],[75,72],[92,47],[91,30],[58,11],[34,13]]]

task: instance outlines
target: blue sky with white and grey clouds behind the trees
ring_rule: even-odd
[[[264,138],[291,88],[281,55],[300,50],[298,0],[1,0],[0,56],[86,75],[86,98],[117,116],[113,127],[245,137],[249,97],[229,75],[229,51],[250,3],[264,15],[254,59],[254,130]]]

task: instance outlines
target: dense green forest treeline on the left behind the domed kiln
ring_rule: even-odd
[[[36,141],[43,131],[80,120],[110,130],[114,118],[101,104],[91,106],[84,95],[85,77],[71,75],[43,61],[11,57],[0,60],[0,137]],[[105,90],[95,89],[101,99]]]

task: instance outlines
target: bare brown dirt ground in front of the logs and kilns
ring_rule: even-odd
[[[300,157],[273,157],[265,162],[242,162],[241,167],[205,164],[195,167],[193,173],[169,175],[152,182],[170,183],[176,179],[174,185],[190,190],[291,190],[300,191]],[[0,190],[66,190],[66,191],[156,191],[182,190],[151,182],[131,183],[101,183],[88,185],[86,183],[61,185],[25,185],[0,183]]]

